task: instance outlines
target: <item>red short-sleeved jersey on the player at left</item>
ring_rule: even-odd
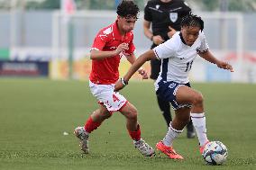
[[[105,27],[96,35],[92,49],[110,51],[115,50],[121,43],[129,44],[129,49],[111,58],[92,60],[90,81],[95,84],[114,84],[119,78],[119,63],[123,55],[131,55],[135,49],[133,44],[133,31],[126,32],[124,37],[118,31],[117,22]]]

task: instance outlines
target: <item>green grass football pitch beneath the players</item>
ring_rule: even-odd
[[[118,112],[90,136],[91,153],[81,155],[73,130],[97,108],[87,82],[1,78],[0,169],[256,169],[256,85],[193,86],[205,96],[208,138],[228,148],[223,166],[206,166],[197,139],[187,139],[186,130],[174,143],[184,161],[159,153],[142,157]],[[139,111],[142,138],[155,146],[167,127],[152,82],[131,82],[122,94]]]

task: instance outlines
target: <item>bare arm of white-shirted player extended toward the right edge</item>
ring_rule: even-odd
[[[204,52],[199,52],[198,55],[201,58],[206,59],[210,63],[213,63],[213,64],[217,65],[217,67],[220,67],[220,68],[223,68],[223,69],[227,69],[227,70],[230,70],[231,72],[233,72],[233,67],[230,64],[215,58],[215,56],[211,53],[210,50],[206,50]]]

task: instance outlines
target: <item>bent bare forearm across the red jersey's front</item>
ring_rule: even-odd
[[[129,49],[129,47],[128,47],[128,44],[126,43],[120,44],[115,50],[104,51],[104,50],[98,50],[98,49],[91,49],[90,58],[91,59],[111,58],[127,49]]]

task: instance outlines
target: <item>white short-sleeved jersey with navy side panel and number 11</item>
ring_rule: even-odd
[[[185,44],[181,38],[181,32],[176,32],[171,39],[153,49],[156,57],[161,60],[160,75],[155,85],[158,85],[161,80],[187,84],[188,73],[197,53],[208,49],[204,32],[200,31],[191,47]]]

